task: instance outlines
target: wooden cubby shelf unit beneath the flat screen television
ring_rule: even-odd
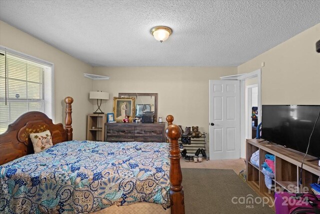
[[[260,142],[261,139],[246,140],[246,182],[260,196],[267,196],[274,199],[274,186],[289,192],[302,192],[309,190],[312,192],[310,183],[316,183],[320,176],[320,166],[317,161],[306,161],[315,157],[306,155],[302,169],[302,185],[298,188],[300,180],[301,162],[304,153],[285,148],[281,145]],[[259,167],[250,162],[251,155],[259,150]],[[273,190],[269,190],[264,184],[264,174],[261,172],[261,164],[265,160],[265,154],[273,154],[274,179],[272,181]]]

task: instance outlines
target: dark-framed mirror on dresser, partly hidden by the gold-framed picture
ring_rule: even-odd
[[[154,111],[154,120],[158,119],[158,94],[157,93],[119,93],[118,97],[134,97],[134,115],[141,116],[143,111]]]

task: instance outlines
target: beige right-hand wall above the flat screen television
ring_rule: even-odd
[[[320,24],[238,66],[238,74],[262,67],[262,104],[320,105]]]

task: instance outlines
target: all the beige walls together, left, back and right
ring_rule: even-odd
[[[102,90],[110,100],[102,102],[112,112],[112,97],[119,92],[158,93],[158,117],[175,116],[176,124],[198,125],[208,132],[208,80],[249,73],[262,68],[262,104],[320,104],[320,54],[315,42],[320,24],[298,34],[254,59],[236,67],[117,67],[91,66],[0,21],[0,45],[54,63],[55,122],[64,118],[63,99],[74,98],[74,139],[85,139],[86,114],[95,110],[88,92]],[[92,81],[83,73],[106,75]]]

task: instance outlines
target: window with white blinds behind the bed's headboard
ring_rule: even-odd
[[[53,64],[0,47],[0,133],[28,111],[54,117]]]

